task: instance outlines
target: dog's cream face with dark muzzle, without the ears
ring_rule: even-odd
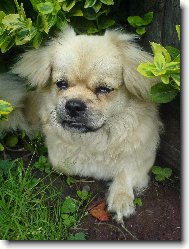
[[[52,70],[57,122],[72,132],[94,132],[127,103],[120,56],[101,37],[77,36],[63,47],[54,54]]]

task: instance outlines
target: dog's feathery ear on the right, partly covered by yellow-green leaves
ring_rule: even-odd
[[[140,99],[148,99],[150,88],[157,83],[157,79],[142,76],[137,67],[143,62],[152,62],[152,56],[135,44],[136,35],[120,31],[107,31],[105,35],[120,51],[123,78],[128,91]]]

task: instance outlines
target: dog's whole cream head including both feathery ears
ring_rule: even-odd
[[[44,89],[58,125],[96,131],[124,112],[131,98],[146,101],[155,83],[136,71],[151,57],[133,38],[119,31],[76,35],[68,28],[45,47],[26,52],[12,71]]]

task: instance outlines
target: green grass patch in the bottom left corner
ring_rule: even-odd
[[[63,190],[53,186],[52,171],[45,175],[35,178],[33,165],[25,168],[21,159],[0,161],[0,239],[86,239],[71,229],[87,214],[91,194],[78,190],[76,198],[62,198]]]

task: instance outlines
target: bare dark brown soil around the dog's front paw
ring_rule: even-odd
[[[113,215],[107,222],[99,221],[92,216],[85,217],[81,224],[73,231],[84,231],[87,240],[181,240],[181,199],[178,187],[178,177],[174,176],[176,183],[164,183],[152,180],[149,187],[140,195],[142,206],[136,207],[136,214],[124,220],[124,226],[113,220]],[[79,179],[79,178],[78,178]],[[59,179],[63,184],[64,194],[72,195],[75,187],[65,184],[65,177]],[[87,188],[98,203],[106,198],[108,183],[94,179],[81,180],[80,188]]]

